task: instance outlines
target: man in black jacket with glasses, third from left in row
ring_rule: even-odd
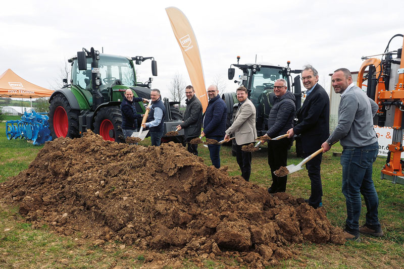
[[[191,139],[198,137],[202,128],[202,104],[196,98],[195,91],[191,85],[185,87],[186,109],[184,113],[184,122],[177,126],[178,130],[184,129],[185,143],[188,144],[188,151],[198,155],[198,145],[191,144]]]

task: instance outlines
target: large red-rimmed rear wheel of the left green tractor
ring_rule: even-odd
[[[79,114],[73,110],[67,98],[59,94],[49,105],[49,129],[53,139],[58,137],[79,137]]]

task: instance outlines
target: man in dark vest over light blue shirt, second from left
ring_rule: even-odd
[[[159,89],[153,89],[150,92],[151,105],[147,106],[150,110],[147,122],[143,123],[143,128],[149,128],[150,141],[152,146],[160,146],[161,138],[164,134],[164,116],[166,115],[166,107],[161,100]]]

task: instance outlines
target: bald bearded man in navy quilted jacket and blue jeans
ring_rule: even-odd
[[[223,140],[226,131],[227,107],[222,98],[220,98],[216,85],[208,87],[208,97],[209,102],[205,111],[204,131],[200,136],[220,141]],[[208,145],[208,148],[212,165],[220,168],[220,145]]]

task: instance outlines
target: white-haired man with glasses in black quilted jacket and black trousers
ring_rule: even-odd
[[[286,134],[293,127],[293,118],[296,111],[294,95],[287,90],[287,82],[277,79],[274,83],[274,101],[268,118],[268,132],[265,136],[271,138]],[[268,164],[271,168],[272,185],[269,193],[285,192],[287,176],[278,177],[274,174],[281,166],[287,165],[287,149],[292,138],[268,141]]]

